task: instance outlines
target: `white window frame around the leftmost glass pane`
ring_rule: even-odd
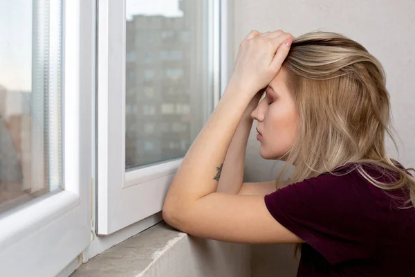
[[[1,215],[1,276],[56,276],[91,243],[95,3],[66,0],[62,8],[64,190]]]

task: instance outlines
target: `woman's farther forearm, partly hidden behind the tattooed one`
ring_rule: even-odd
[[[252,128],[253,119],[250,109],[247,109],[238,125],[232,141],[230,142],[225,161],[223,162],[221,179],[217,192],[237,194],[243,182],[243,169],[245,166],[246,145]]]

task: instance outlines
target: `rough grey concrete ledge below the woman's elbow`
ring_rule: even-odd
[[[160,222],[104,251],[77,269],[77,277],[248,277],[250,247],[194,238]]]

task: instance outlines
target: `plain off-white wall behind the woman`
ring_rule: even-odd
[[[295,37],[313,30],[326,30],[347,35],[360,42],[380,60],[387,74],[391,95],[394,127],[399,157],[391,141],[387,141],[389,157],[405,167],[415,166],[415,1],[413,0],[235,0],[234,57],[239,43],[250,30],[260,32],[282,29]],[[252,127],[246,155],[246,181],[265,181],[276,177],[281,162],[259,157],[259,142]],[[276,166],[273,170],[273,166]],[[272,170],[274,172],[272,172]],[[295,264],[286,247],[254,247],[254,276],[266,277],[258,271],[270,266],[269,276],[295,276]],[[255,254],[256,253],[256,254]],[[261,253],[259,256],[258,253]],[[264,253],[269,253],[264,259]],[[276,261],[278,259],[278,261]],[[291,267],[281,267],[281,264]],[[255,274],[256,273],[256,274]]]

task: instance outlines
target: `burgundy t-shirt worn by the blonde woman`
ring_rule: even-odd
[[[363,168],[379,181],[391,181]],[[266,195],[265,204],[277,222],[305,242],[297,276],[413,277],[415,208],[399,208],[402,202],[391,195],[405,197],[405,192],[388,195],[353,170],[291,184]]]

